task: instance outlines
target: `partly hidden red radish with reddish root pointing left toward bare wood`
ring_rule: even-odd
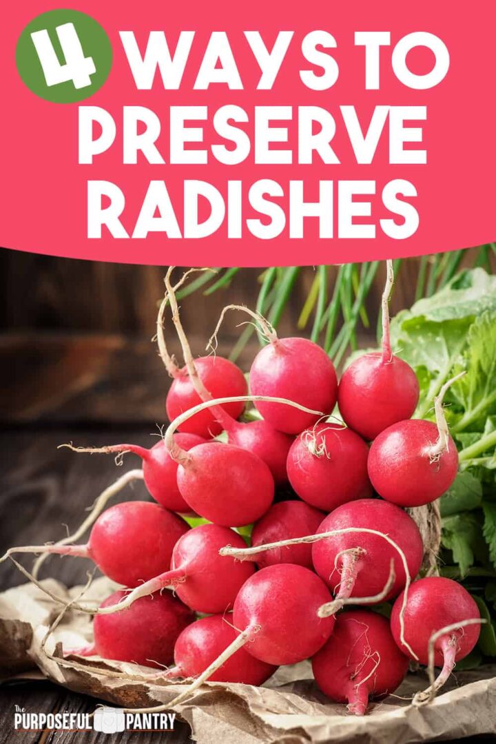
[[[176,433],[174,434],[174,441],[187,452],[192,447],[203,444],[207,440],[197,434]],[[73,447],[71,444],[61,444],[60,447],[68,447],[73,452],[88,452],[91,455],[97,453],[123,455],[126,452],[132,452],[143,461],[143,478],[150,496],[170,511],[190,512],[190,507],[178,490],[178,464],[170,457],[164,445],[164,440],[160,440],[150,449],[137,444],[112,444],[106,447]]]

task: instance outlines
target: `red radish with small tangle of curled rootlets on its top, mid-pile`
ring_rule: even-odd
[[[320,423],[300,434],[289,450],[289,482],[303,501],[329,512],[355,498],[372,496],[369,448],[344,426]]]

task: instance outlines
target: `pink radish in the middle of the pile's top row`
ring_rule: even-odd
[[[250,371],[254,395],[294,400],[330,414],[336,403],[338,381],[326,352],[308,339],[273,339],[257,353]],[[258,402],[263,418],[286,434],[299,434],[315,424],[317,416],[289,406]]]

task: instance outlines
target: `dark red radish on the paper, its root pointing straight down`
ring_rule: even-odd
[[[312,670],[325,695],[363,716],[370,698],[380,700],[399,687],[408,658],[396,646],[386,618],[352,610],[338,616],[329,641],[312,658]]]

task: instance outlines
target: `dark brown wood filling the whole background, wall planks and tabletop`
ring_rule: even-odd
[[[402,266],[392,312],[413,301],[418,263]],[[164,422],[170,380],[151,338],[157,301],[163,296],[163,268],[122,266],[42,257],[0,249],[0,554],[12,545],[54,541],[77,527],[84,510],[103,488],[127,469],[113,458],[57,450],[68,440],[94,446],[118,441],[148,444],[155,424]],[[193,352],[200,355],[225,304],[254,307],[260,271],[239,272],[228,289],[208,298],[185,298],[181,317]],[[368,299],[375,327],[381,272]],[[304,269],[283,317],[281,333],[295,333],[296,321],[313,279]],[[225,324],[219,353],[229,353],[239,331],[235,315]],[[168,327],[171,349],[173,330]],[[364,339],[366,342],[367,339]],[[257,350],[253,341],[239,359],[248,370]],[[141,483],[119,500],[146,498]],[[26,559],[30,565],[30,559]],[[44,575],[68,585],[86,580],[88,562],[51,557]],[[7,562],[0,566],[0,589],[24,583]],[[0,744],[62,743],[71,734],[13,733],[13,705],[30,711],[93,711],[95,701],[48,682],[0,687]],[[181,724],[174,744],[190,737]],[[145,743],[152,734],[120,735]],[[108,741],[102,734],[79,734],[85,743]],[[227,744],[227,743],[226,743]],[[231,743],[228,743],[231,744]]]

